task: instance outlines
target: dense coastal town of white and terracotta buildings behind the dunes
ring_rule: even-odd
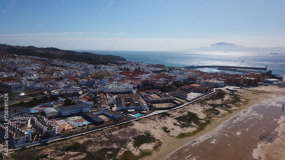
[[[15,54],[1,54],[0,63],[3,154],[5,145],[14,153],[18,149],[80,136],[101,128],[123,128],[126,123],[130,125],[129,122],[135,123],[134,120],[160,113],[169,117],[165,111],[188,107],[188,104],[213,94],[225,100],[225,97],[246,94],[247,88],[285,84],[283,77],[273,75],[270,70],[207,73],[197,68],[143,62],[115,61],[113,64],[92,65]],[[203,106],[191,107],[204,116],[198,118],[193,110],[187,115],[196,117],[196,120],[190,123],[181,120],[180,124],[172,123],[161,128],[154,125],[152,128],[165,132],[165,135],[185,137],[193,128],[199,129],[198,123],[209,123],[207,116],[221,117],[244,102],[237,100],[234,103],[231,107],[215,104],[227,109],[215,108],[214,104],[209,110]],[[161,121],[162,115],[151,119]],[[173,131],[168,130],[170,128]]]

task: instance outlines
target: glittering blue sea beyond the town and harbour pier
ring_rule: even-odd
[[[285,76],[285,53],[270,54],[268,52],[222,52],[213,51],[115,51],[109,50],[74,50],[78,52],[90,52],[102,55],[117,55],[127,61],[163,64],[172,67],[186,67],[189,65],[220,65],[262,67],[267,66],[267,71],[272,74]],[[244,60],[244,61],[243,61]],[[221,72],[217,68],[199,68],[204,72]],[[263,72],[265,70],[262,70]],[[231,71],[227,71],[231,72]],[[234,73],[234,72],[231,72]],[[241,73],[241,72],[235,72]]]

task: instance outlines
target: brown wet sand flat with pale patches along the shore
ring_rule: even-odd
[[[280,159],[285,153],[285,147],[282,147],[285,145],[282,139],[285,133],[282,125],[284,101],[284,96],[273,96],[270,101],[253,105],[176,149],[166,159]],[[276,141],[280,151],[272,151],[276,156],[266,155],[270,149],[266,145]]]

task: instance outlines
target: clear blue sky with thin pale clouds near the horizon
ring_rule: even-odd
[[[0,43],[183,50],[219,41],[258,47],[271,37],[266,47],[284,47],[284,6],[284,0],[2,0]]]

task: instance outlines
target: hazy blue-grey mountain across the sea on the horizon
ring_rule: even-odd
[[[245,47],[233,43],[219,42],[209,47],[189,48],[184,51],[285,52],[285,47]]]

